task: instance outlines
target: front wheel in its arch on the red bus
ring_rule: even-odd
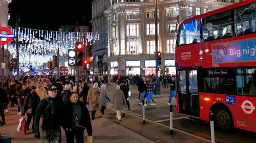
[[[222,103],[216,103],[210,110],[214,113],[215,127],[222,131],[231,131],[233,129],[233,116],[229,108]]]

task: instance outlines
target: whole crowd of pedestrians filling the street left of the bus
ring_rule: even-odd
[[[175,76],[161,76],[159,78],[165,87],[165,78],[170,87],[170,100],[176,97]],[[138,88],[138,103],[146,106],[148,103],[156,105],[153,97],[154,75],[101,75],[93,74],[81,76],[76,80],[74,76],[20,76],[5,77],[4,89],[0,88],[0,115],[4,126],[4,111],[8,112],[8,106],[17,108],[17,114],[27,116],[27,130],[32,132],[35,138],[44,142],[60,142],[62,127],[66,133],[67,142],[83,142],[83,130],[87,129],[88,135],[92,135],[91,120],[97,116],[105,115],[107,102],[110,102],[106,86],[116,84],[113,94],[113,104],[116,110],[116,122],[120,122],[125,116],[124,109],[130,107],[130,84]],[[92,83],[92,88],[89,84]],[[170,100],[168,104],[170,104]],[[98,112],[97,112],[98,111]],[[121,116],[122,115],[122,116]],[[91,120],[90,120],[91,116]],[[42,133],[39,132],[39,121],[42,118]],[[65,120],[63,120],[65,119]]]

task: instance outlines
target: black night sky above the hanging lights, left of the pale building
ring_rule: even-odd
[[[19,27],[58,31],[60,25],[88,25],[92,19],[92,0],[12,0],[9,4],[9,26],[15,27],[16,15]],[[85,20],[83,20],[85,19]]]

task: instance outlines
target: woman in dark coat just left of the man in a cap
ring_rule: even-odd
[[[24,102],[24,106],[23,106],[23,112],[22,112],[22,116],[25,116],[25,113],[28,116],[27,119],[27,130],[29,130],[29,125],[31,122],[31,119],[33,118],[33,124],[32,124],[32,130],[33,132],[34,130],[34,120],[35,120],[35,113],[36,113],[36,108],[37,105],[40,102],[40,97],[37,95],[37,93],[35,92],[35,88],[33,88],[29,95],[26,96],[25,98],[25,102]]]

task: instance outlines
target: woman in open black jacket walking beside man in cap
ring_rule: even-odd
[[[65,105],[65,117],[63,118],[67,143],[73,143],[74,137],[76,137],[77,143],[83,143],[84,129],[87,129],[89,136],[92,135],[92,125],[89,115],[89,110],[86,106],[78,100],[78,94],[72,92],[70,94],[70,101]]]

